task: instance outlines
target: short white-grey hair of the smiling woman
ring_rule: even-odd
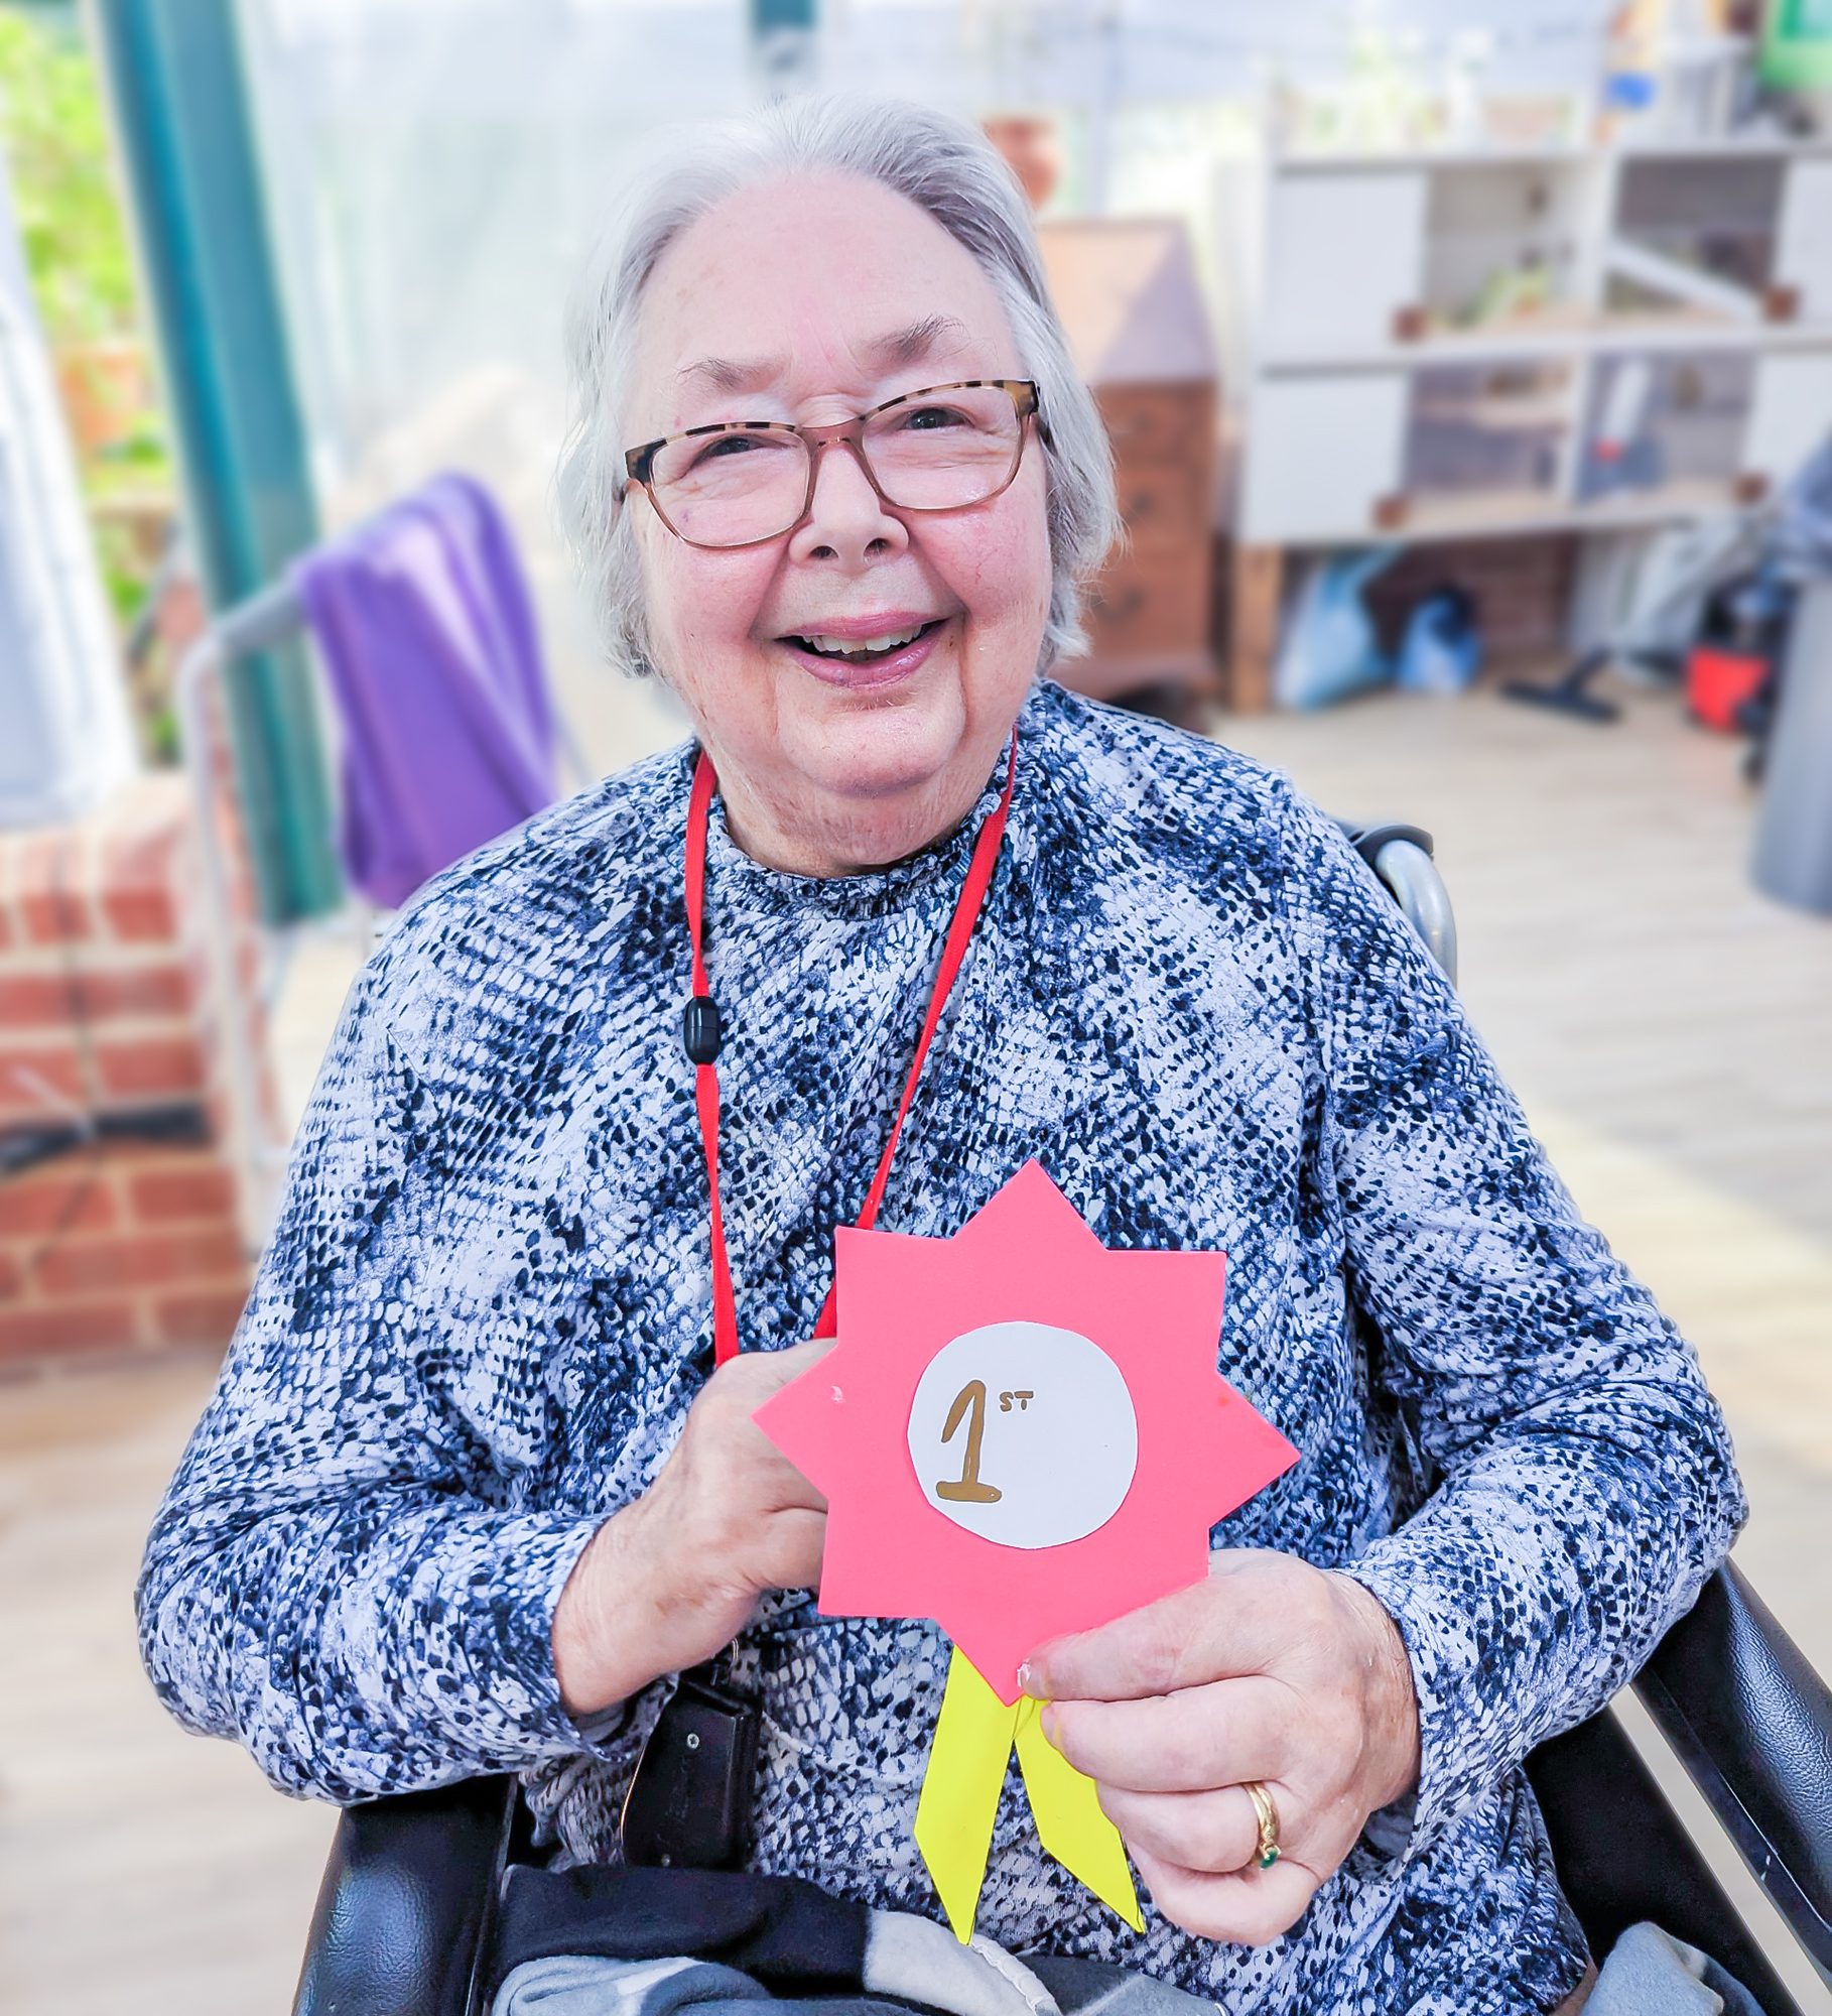
[[[853,173],[919,204],[973,254],[1036,379],[1054,579],[1038,669],[1080,657],[1082,587],[1119,536],[1113,452],[1044,282],[1018,177],[977,127],[905,99],[798,97],[746,119],[683,125],[623,200],[566,308],[572,417],[560,454],[566,538],[611,661],[653,669],[631,514],[623,508],[623,391],[643,290],[669,244],[728,196],[798,173]]]

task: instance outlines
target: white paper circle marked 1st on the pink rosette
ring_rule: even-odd
[[[951,1413],[955,1429],[943,1441]],[[969,1462],[975,1417],[979,1450]],[[1125,1504],[1139,1468],[1139,1417],[1125,1375],[1090,1337],[1048,1322],[988,1322],[929,1359],[909,1409],[909,1460],[923,1496],[955,1526],[1000,1546],[1064,1546],[1098,1532]],[[961,1494],[973,1472],[977,1500]],[[990,1490],[998,1498],[986,1500]]]

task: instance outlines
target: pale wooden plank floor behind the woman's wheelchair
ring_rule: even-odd
[[[1586,1216],[1695,1341],[1755,1506],[1739,1560],[1832,1671],[1832,921],[1749,889],[1731,746],[1628,698],[1614,728],[1475,694],[1227,738],[1330,810],[1437,833],[1475,1020]],[[329,966],[304,976],[294,1077],[339,992]],[[193,1359],[0,1387],[4,2012],[290,1996],[331,1814],[179,1732],[133,1651],[141,1538],[210,1377]]]

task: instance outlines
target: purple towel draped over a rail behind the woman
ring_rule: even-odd
[[[292,566],[343,722],[345,873],[395,909],[556,796],[554,710],[502,514],[435,476]]]

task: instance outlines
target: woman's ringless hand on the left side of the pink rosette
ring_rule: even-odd
[[[593,1534],[554,1609],[568,1714],[711,1659],[764,1591],[818,1587],[826,1500],[752,1415],[830,1349],[820,1337],[717,1367],[661,1474]]]

